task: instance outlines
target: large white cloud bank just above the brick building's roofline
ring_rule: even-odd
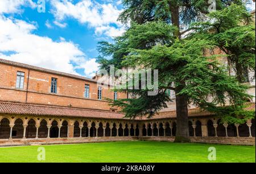
[[[2,0],[1,0],[2,1]],[[60,38],[54,42],[51,38],[33,34],[36,25],[23,20],[6,18],[0,15],[0,58],[54,69],[56,71],[76,73],[76,66],[85,68],[87,76],[97,71],[95,60],[86,61],[79,47]]]

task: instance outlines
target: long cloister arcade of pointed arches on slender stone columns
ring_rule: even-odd
[[[192,137],[255,137],[255,120],[242,125],[222,124],[218,118],[189,119]],[[0,116],[0,139],[168,137],[176,134],[176,120],[128,120]]]

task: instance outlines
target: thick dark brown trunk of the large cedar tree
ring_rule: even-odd
[[[179,92],[176,92],[176,94]],[[176,95],[176,115],[177,127],[175,135],[175,143],[187,143],[189,139],[188,128],[188,103],[186,96]]]

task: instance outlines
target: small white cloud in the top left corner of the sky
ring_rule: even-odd
[[[36,3],[32,0],[0,0],[0,14],[1,13],[20,13],[21,6],[36,7]]]

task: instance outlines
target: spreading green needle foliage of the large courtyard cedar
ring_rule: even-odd
[[[197,27],[195,34],[180,39],[176,35],[180,28],[171,24],[170,14],[173,9],[170,5],[183,6],[186,9],[191,7],[194,11],[189,12],[187,9],[180,14],[184,18],[183,22],[191,22],[201,18],[205,1],[123,1],[126,10],[119,19],[122,22],[131,20],[131,27],[125,34],[115,38],[113,44],[100,43],[98,50],[101,57],[98,62],[101,68],[105,69],[110,64],[114,64],[115,68],[158,69],[159,92],[156,96],[148,96],[149,89],[118,90],[134,93],[139,97],[109,100],[111,105],[121,107],[121,111],[129,118],[144,115],[152,117],[167,107],[166,102],[170,101],[170,98],[165,92],[172,89],[175,90],[176,96],[187,98],[184,102],[222,115],[232,122],[243,122],[245,118],[252,117],[251,113],[243,113],[242,109],[245,99],[251,97],[246,93],[247,86],[241,85],[236,78],[228,75],[226,67],[217,59],[223,55],[206,56],[204,52],[216,47],[225,50],[234,48],[240,51],[235,53],[242,66],[253,68],[251,63],[255,61],[255,53],[251,52],[251,39],[255,36],[255,29],[244,6],[230,3],[234,1],[217,2],[218,9],[223,10],[209,13],[211,22],[193,24],[192,27]],[[198,18],[185,20],[189,18],[188,14],[194,14]],[[105,56],[111,56],[112,59]],[[232,56],[233,52],[229,54],[229,58]],[[227,107],[227,102],[231,106]]]

